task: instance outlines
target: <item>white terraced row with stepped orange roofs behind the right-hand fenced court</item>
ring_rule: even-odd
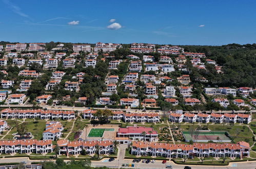
[[[213,122],[213,123],[250,123],[251,122],[251,115],[249,114],[219,114],[219,113],[211,113],[211,114],[192,114],[192,113],[170,113],[169,121],[172,122]]]

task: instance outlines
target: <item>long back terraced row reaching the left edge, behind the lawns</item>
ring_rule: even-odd
[[[1,118],[36,118],[40,119],[63,119],[71,120],[75,118],[74,111],[55,111],[55,110],[18,110],[4,109],[1,111]]]

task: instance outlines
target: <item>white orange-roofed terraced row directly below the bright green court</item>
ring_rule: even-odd
[[[96,145],[100,146],[99,154],[108,155],[113,152],[113,143],[111,140],[106,141],[69,141],[69,140],[58,140],[58,146],[60,146],[59,154],[77,155],[81,154],[83,150],[87,154],[97,153]]]

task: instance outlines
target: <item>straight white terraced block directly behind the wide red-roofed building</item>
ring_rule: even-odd
[[[124,122],[160,122],[160,115],[157,113],[124,113]]]

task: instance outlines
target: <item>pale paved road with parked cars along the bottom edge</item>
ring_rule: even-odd
[[[21,162],[26,161],[28,164],[31,162],[40,162],[43,160],[29,160],[28,157],[17,157],[17,158],[2,158],[0,159],[0,163],[8,163],[8,162]],[[52,160],[54,161],[54,160]],[[65,160],[68,161],[68,160]],[[115,159],[114,161],[108,162],[108,159],[103,159],[101,161],[92,161],[92,166],[107,166],[112,168],[117,168],[118,166],[121,167],[123,163],[132,163],[132,160],[124,159],[122,162]],[[133,163],[135,164],[134,168],[165,168],[166,165],[172,165],[173,168],[184,168],[185,165],[177,165],[174,164],[172,161],[168,161],[167,164],[162,164],[162,161],[156,161],[155,163]],[[191,165],[191,167],[198,168],[198,169],[224,169],[224,168],[234,168],[234,169],[254,169],[256,168],[256,162],[237,162],[237,163],[230,163],[228,166],[200,166],[200,165]],[[131,167],[123,167],[123,168],[131,168]]]

